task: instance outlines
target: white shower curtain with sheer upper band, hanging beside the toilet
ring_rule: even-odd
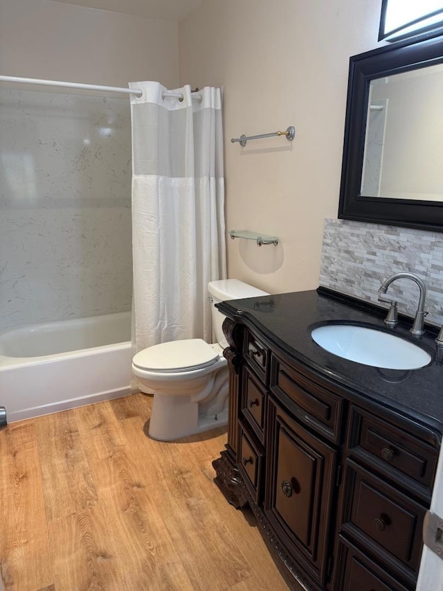
[[[221,91],[165,96],[131,82],[135,351],[176,339],[211,342],[209,281],[226,278]],[[195,95],[195,93],[194,93]]]

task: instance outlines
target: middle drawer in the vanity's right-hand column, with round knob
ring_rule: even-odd
[[[375,543],[373,547],[382,560],[392,557],[413,572],[418,570],[422,554],[422,528],[426,509],[375,477],[367,470],[346,461],[343,530]]]

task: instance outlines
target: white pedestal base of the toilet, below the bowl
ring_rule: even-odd
[[[186,396],[154,394],[148,432],[157,441],[174,441],[227,424],[228,407],[215,416],[199,416],[198,403],[190,402]]]

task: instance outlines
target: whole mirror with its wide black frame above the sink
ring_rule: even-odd
[[[338,218],[443,231],[443,37],[350,58]]]

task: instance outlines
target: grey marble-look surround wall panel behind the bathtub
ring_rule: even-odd
[[[129,99],[1,87],[0,105],[0,330],[129,310]]]

